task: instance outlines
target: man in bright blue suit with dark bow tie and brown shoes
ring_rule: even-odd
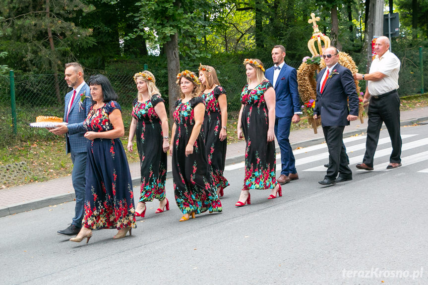
[[[275,89],[275,135],[281,150],[281,174],[276,179],[279,184],[299,179],[293,149],[290,146],[291,122],[300,121],[300,97],[297,89],[296,69],[284,62],[285,48],[277,45],[272,49],[274,66],[265,72],[266,78]]]

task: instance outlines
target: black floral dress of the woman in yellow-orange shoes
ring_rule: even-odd
[[[183,103],[177,101],[174,111],[176,132],[174,134],[172,171],[176,203],[183,214],[203,213],[207,210],[221,212],[221,202],[216,194],[208,164],[205,142],[200,132],[193,153],[185,156],[185,148],[193,130],[194,108],[204,104],[202,97]]]

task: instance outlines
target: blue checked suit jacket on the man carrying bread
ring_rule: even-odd
[[[82,103],[82,108],[79,107],[80,95],[85,93],[85,100]],[[64,108],[64,122],[67,118],[68,103],[73,96],[73,90],[65,94],[65,108]],[[79,93],[76,93],[73,103],[70,107],[70,113],[68,114],[68,133],[65,135],[66,140],[66,153],[81,153],[87,152],[88,139],[83,135],[86,129],[83,127],[83,121],[86,119],[89,109],[92,105],[91,91],[89,90],[88,84],[84,84],[80,89]]]

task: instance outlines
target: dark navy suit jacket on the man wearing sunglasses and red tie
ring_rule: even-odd
[[[336,69],[339,74],[331,74]],[[322,126],[346,126],[348,114],[358,116],[359,100],[354,77],[351,70],[340,65],[334,66],[324,85],[322,94],[319,92],[322,69],[316,78],[316,100],[313,114],[321,116]],[[348,109],[349,100],[349,109]]]

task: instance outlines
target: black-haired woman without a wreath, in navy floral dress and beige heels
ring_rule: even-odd
[[[83,125],[87,132],[85,215],[82,228],[70,241],[86,243],[91,229],[116,228],[113,238],[122,238],[135,226],[132,180],[119,139],[124,134],[118,95],[104,75],[88,82],[94,102]]]

